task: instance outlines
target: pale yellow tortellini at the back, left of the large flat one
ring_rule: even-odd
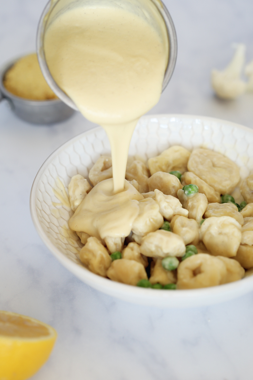
[[[175,145],[164,150],[159,156],[149,158],[148,167],[151,175],[157,171],[170,173],[170,171],[178,170],[184,173],[187,170],[189,157],[189,150]]]

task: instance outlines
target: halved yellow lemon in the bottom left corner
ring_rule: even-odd
[[[25,380],[47,361],[57,338],[51,326],[0,310],[0,380]]]

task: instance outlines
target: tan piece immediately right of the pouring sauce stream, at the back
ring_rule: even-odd
[[[134,160],[131,165],[126,168],[126,179],[132,181],[135,179],[139,184],[140,193],[148,191],[149,171],[145,163],[140,160]]]

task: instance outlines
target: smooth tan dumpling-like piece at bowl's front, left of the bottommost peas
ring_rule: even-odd
[[[143,264],[127,259],[114,260],[107,271],[107,277],[128,285],[137,285],[140,280],[148,279]]]

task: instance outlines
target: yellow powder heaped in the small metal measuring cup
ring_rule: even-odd
[[[9,92],[29,100],[50,100],[57,96],[48,86],[41,73],[37,55],[20,58],[6,72],[3,84]]]

